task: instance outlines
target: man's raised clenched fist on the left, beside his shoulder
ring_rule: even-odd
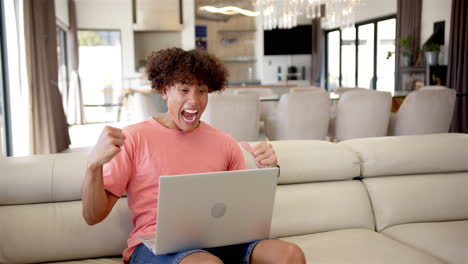
[[[93,168],[101,167],[109,162],[125,143],[125,135],[122,129],[106,126],[99,136],[96,146],[89,154],[88,166]]]

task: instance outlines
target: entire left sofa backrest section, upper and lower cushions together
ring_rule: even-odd
[[[0,159],[0,263],[117,256],[131,230],[126,198],[98,225],[82,217],[87,153]]]

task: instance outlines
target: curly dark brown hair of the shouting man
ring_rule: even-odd
[[[229,77],[226,67],[214,55],[180,48],[153,52],[147,58],[146,73],[151,88],[158,92],[175,83],[205,84],[210,93],[222,91]]]

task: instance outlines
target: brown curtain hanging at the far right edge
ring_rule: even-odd
[[[468,133],[468,0],[452,0],[447,85],[457,99],[450,131]]]

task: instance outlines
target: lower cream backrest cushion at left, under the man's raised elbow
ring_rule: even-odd
[[[131,231],[126,198],[95,226],[81,202],[0,206],[0,263],[37,263],[119,256]]]

